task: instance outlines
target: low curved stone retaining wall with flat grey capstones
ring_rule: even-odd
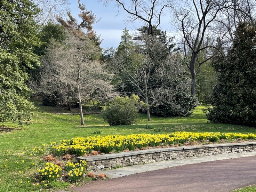
[[[86,160],[88,171],[98,172],[117,167],[120,168],[156,161],[249,151],[256,151],[256,142],[156,148],[97,156],[77,157],[76,160]]]

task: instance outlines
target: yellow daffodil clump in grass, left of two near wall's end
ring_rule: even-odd
[[[46,163],[45,168],[38,169],[37,171],[41,174],[43,180],[48,182],[54,181],[60,177],[61,167],[53,163]]]

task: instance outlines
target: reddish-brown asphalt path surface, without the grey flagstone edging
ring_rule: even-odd
[[[71,188],[76,192],[230,192],[256,184],[256,156],[188,164]]]

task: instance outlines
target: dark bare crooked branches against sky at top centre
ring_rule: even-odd
[[[111,0],[100,1],[104,1],[107,4]],[[148,26],[148,35],[151,36],[153,36],[156,28],[160,25],[164,9],[171,6],[169,0],[130,0],[129,5],[124,0],[114,1],[118,9],[123,9],[129,14],[125,19],[126,22],[133,22],[135,20],[144,22]]]

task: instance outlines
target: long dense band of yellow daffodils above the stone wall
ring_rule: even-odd
[[[220,133],[220,132],[174,132],[171,134],[132,134],[132,135],[107,135],[93,137],[77,137],[70,140],[61,140],[60,143],[52,142],[54,153],[59,155],[69,153],[83,156],[91,153],[92,150],[109,153],[110,151],[123,151],[124,149],[134,150],[142,147],[156,147],[160,144],[183,144],[186,141],[208,140],[217,142],[220,139],[256,139],[256,134],[242,133]],[[57,151],[56,151],[57,150]]]

